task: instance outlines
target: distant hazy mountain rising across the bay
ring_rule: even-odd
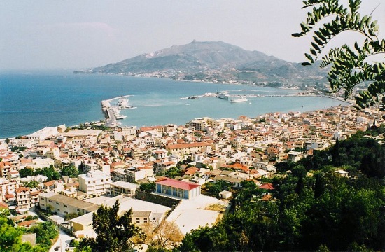
[[[264,85],[311,85],[316,81],[326,81],[326,71],[318,65],[302,66],[300,63],[286,62],[221,41],[193,41],[187,45],[173,45],[171,48],[75,73],[113,73]]]

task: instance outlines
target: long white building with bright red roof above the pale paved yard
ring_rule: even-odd
[[[201,186],[197,183],[177,181],[175,179],[161,179],[156,181],[156,192],[163,195],[193,199],[200,195]]]

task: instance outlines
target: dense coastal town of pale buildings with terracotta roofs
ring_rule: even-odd
[[[209,185],[226,181],[236,190],[253,181],[274,189],[264,179],[276,176],[278,163],[297,162],[381,123],[379,109],[336,106],[256,118],[195,118],[186,125],[45,127],[1,140],[0,208],[9,209],[18,226],[36,225],[40,219],[28,216],[37,214],[81,238],[96,235],[92,213],[119,200],[120,211],[132,209],[139,227],[167,220],[186,235],[214,225],[230,204],[231,190],[213,195]],[[274,199],[266,193],[260,200]],[[55,249],[69,246],[61,240]]]

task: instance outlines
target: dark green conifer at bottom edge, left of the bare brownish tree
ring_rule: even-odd
[[[113,207],[102,205],[92,214],[92,226],[97,238],[85,239],[79,244],[80,251],[90,246],[92,251],[130,251],[133,247],[132,237],[141,235],[141,230],[132,223],[132,209],[119,216],[119,200]]]

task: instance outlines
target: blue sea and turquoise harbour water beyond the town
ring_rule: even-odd
[[[248,102],[201,96],[228,91],[253,94]],[[125,126],[185,125],[193,118],[256,117],[270,112],[313,111],[345,102],[327,97],[299,97],[298,90],[176,81],[105,74],[73,74],[72,71],[0,72],[0,139],[31,134],[43,127],[79,125],[104,120],[102,100],[128,96],[131,106],[119,120]],[[117,102],[118,100],[116,100]],[[113,101],[115,102],[115,101]],[[111,102],[111,104],[113,104]]]

